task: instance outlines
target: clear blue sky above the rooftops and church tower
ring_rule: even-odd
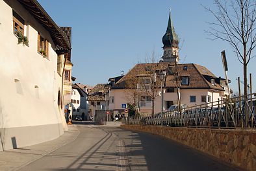
[[[209,40],[204,30],[214,18],[201,6],[214,8],[212,0],[38,0],[59,26],[72,27],[71,62],[76,82],[87,85],[107,83],[109,78],[127,73],[147,54],[162,56],[162,36],[166,32],[169,9],[175,32],[184,40],[180,62],[198,63],[224,78],[220,52],[225,50],[231,88],[237,91],[242,64],[230,45]],[[248,65],[256,91],[256,58]],[[248,76],[249,77],[249,76]]]

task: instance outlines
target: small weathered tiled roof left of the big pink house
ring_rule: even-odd
[[[108,84],[97,84],[89,93],[89,101],[105,101],[105,95],[109,92]]]

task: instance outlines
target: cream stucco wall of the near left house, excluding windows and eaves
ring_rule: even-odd
[[[28,36],[29,46],[18,44],[18,38],[13,33],[12,8],[27,23],[25,36]],[[8,149],[11,137],[30,135],[30,131],[21,128],[36,131],[38,126],[48,128],[62,124],[58,108],[58,90],[61,86],[57,74],[57,54],[53,50],[55,45],[49,32],[17,1],[1,0],[0,16],[0,37],[3,40],[0,41],[0,128],[12,130],[5,134]],[[38,32],[49,40],[49,59],[37,52]],[[55,129],[41,131],[43,134],[39,138],[31,136],[31,142],[41,143],[63,133],[62,126]],[[17,143],[18,147],[27,144],[24,139]]]

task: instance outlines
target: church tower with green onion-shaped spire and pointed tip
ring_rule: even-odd
[[[164,49],[163,61],[179,62],[179,38],[173,27],[171,10],[166,33],[162,37],[162,43],[164,44],[164,47],[162,47]]]

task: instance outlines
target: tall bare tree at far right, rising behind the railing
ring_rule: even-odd
[[[255,0],[214,0],[217,11],[205,7],[216,18],[216,23],[209,23],[207,31],[213,39],[220,39],[230,43],[238,60],[243,65],[244,95],[247,92],[247,65],[253,58],[256,46],[256,2]]]

